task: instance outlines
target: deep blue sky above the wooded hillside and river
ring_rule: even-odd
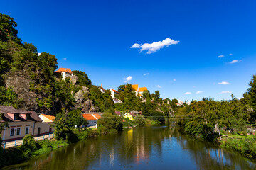
[[[117,89],[132,77],[129,83],[163,98],[221,100],[242,97],[256,74],[255,7],[235,0],[3,0],[0,12],[14,17],[23,42],[55,55],[59,67],[87,73],[92,84]]]

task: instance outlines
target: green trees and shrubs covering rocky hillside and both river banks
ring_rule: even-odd
[[[247,125],[255,125],[256,121],[256,75],[243,98],[239,99],[231,95],[228,101],[202,98],[201,101],[180,103],[177,99],[161,98],[159,91],[150,93],[145,90],[142,96],[137,96],[132,84],[123,84],[114,96],[121,102],[114,103],[110,89],[102,92],[102,87],[92,85],[85,72],[74,70],[76,81],[63,80],[55,72],[58,69],[55,55],[39,54],[33,44],[22,42],[16,26],[14,18],[0,13],[0,105],[55,115],[55,140],[35,142],[28,135],[24,145],[0,148],[0,167],[87,137],[119,132],[124,127],[159,125],[166,119],[175,120],[187,135],[256,158],[255,132],[247,130]],[[80,128],[87,126],[87,120],[81,114],[90,111],[105,113],[98,120],[97,130]],[[121,117],[115,111],[122,113]],[[129,111],[139,114],[133,121],[127,118],[123,121],[122,116]],[[4,127],[8,127],[8,123],[0,124],[0,134]]]

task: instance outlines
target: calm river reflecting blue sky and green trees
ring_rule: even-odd
[[[4,169],[256,169],[256,164],[175,126],[137,127],[57,149]]]

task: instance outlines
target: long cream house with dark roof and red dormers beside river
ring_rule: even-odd
[[[9,123],[9,127],[2,130],[1,138],[4,141],[20,140],[27,134],[34,136],[52,132],[50,123],[42,120],[34,111],[15,109],[12,106],[0,106],[0,123]]]

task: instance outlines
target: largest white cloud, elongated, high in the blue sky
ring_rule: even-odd
[[[130,48],[140,48],[139,52],[147,51],[146,54],[151,54],[152,52],[156,52],[157,50],[160,50],[163,47],[168,47],[169,45],[175,45],[178,44],[179,41],[172,40],[171,38],[166,38],[165,40],[158,41],[158,42],[152,42],[144,43],[144,44],[137,44],[135,43]]]

